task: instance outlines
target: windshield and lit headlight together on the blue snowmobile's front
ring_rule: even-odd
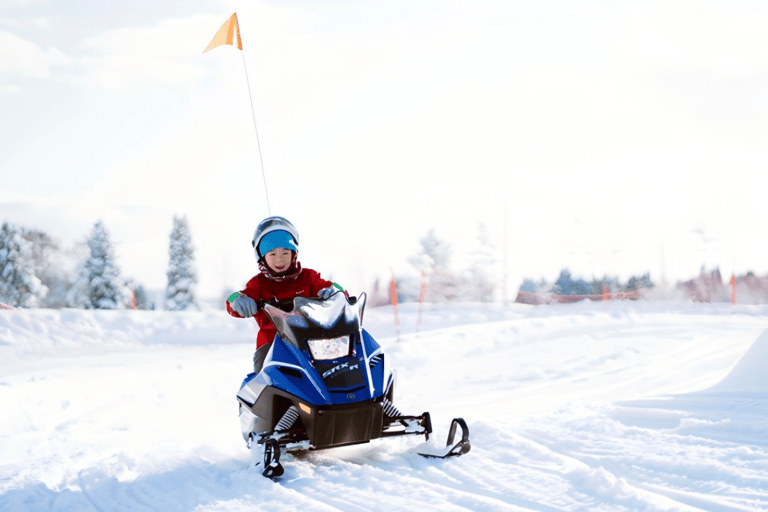
[[[289,312],[271,305],[264,309],[280,338],[308,350],[315,360],[332,360],[352,354],[364,307],[364,293],[355,299],[338,292],[326,300],[296,297]]]

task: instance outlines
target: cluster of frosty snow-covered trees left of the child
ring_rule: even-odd
[[[194,247],[186,217],[174,217],[164,309],[197,309]],[[146,289],[121,276],[102,221],[73,250],[42,231],[0,227],[0,302],[14,307],[154,309]]]

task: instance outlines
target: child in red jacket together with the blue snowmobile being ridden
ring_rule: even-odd
[[[227,301],[231,315],[255,317],[260,327],[254,371],[237,398],[243,438],[269,477],[283,473],[281,448],[289,445],[323,449],[432,432],[429,413],[404,416],[392,403],[394,373],[362,329],[365,294],[350,298],[302,269],[298,243],[287,219],[259,223],[252,245],[261,272]],[[464,420],[453,420],[448,445],[440,456],[469,451]]]

